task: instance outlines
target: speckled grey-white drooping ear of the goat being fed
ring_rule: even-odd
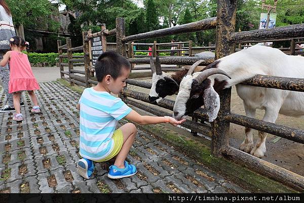
[[[204,90],[204,104],[205,110],[209,116],[209,122],[213,122],[217,117],[220,102],[219,95],[211,85]]]

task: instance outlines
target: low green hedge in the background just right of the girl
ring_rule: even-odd
[[[29,62],[33,65],[36,66],[37,64],[45,64],[46,66],[55,66],[56,62],[58,62],[59,55],[58,53],[27,53],[28,60]],[[73,56],[83,56],[83,53],[73,53]],[[67,58],[63,58],[64,63],[67,63]]]

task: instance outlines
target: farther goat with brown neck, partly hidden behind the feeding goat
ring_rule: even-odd
[[[203,61],[203,60],[202,60]],[[156,57],[155,62],[150,56],[150,66],[152,75],[152,87],[149,93],[151,103],[157,104],[166,96],[175,94],[178,91],[179,84],[182,78],[187,74],[190,66],[186,65],[181,71],[176,72],[171,76],[167,76],[162,72],[162,67],[159,57]],[[205,66],[197,66],[194,72],[201,71]]]

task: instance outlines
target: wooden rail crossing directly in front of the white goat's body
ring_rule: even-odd
[[[304,92],[304,78],[257,75],[243,82],[245,85]]]

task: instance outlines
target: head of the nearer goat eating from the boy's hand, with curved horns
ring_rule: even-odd
[[[225,75],[229,78],[230,76],[224,71],[214,68],[219,60],[206,66],[202,72],[192,74],[201,62],[202,60],[199,60],[194,63],[180,83],[173,108],[173,117],[177,120],[181,120],[185,115],[192,114],[203,105],[209,116],[209,122],[217,117],[220,107],[219,95],[213,89],[212,81],[208,77],[215,74]]]

